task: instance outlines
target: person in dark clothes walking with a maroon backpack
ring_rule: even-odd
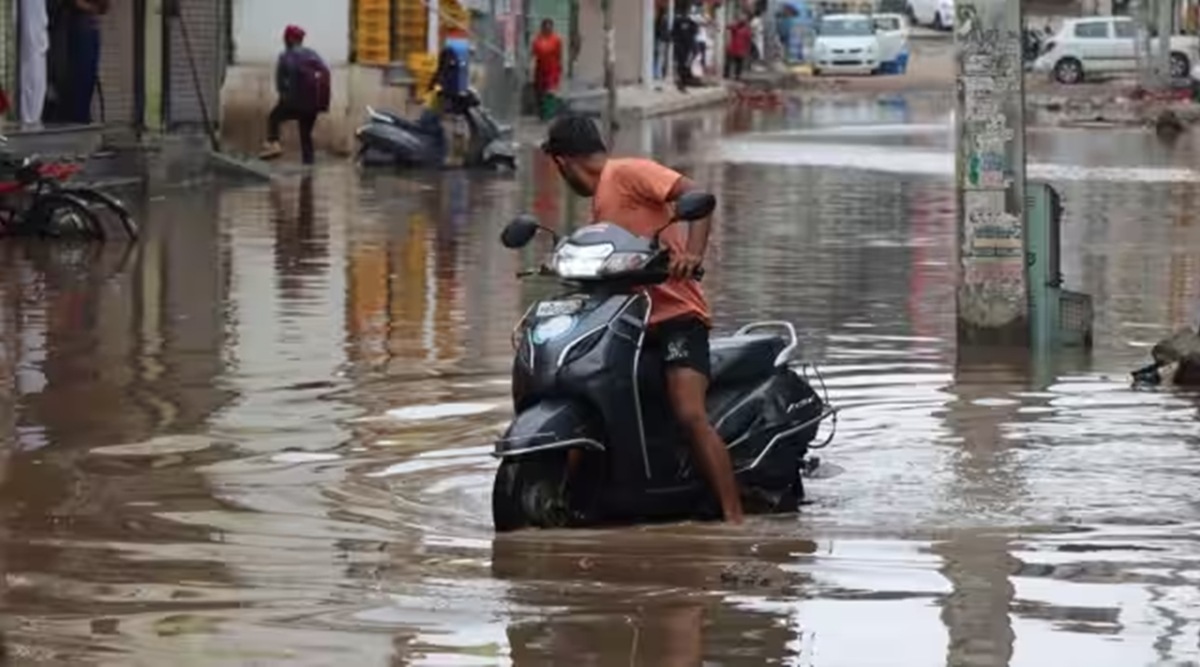
[[[258,156],[274,160],[283,155],[280,126],[294,120],[300,126],[300,155],[305,164],[313,163],[312,131],[317,116],[329,110],[329,66],[317,52],[304,46],[305,31],[298,25],[283,30],[283,53],[275,66],[275,90],[278,102],[266,121],[266,145]]]

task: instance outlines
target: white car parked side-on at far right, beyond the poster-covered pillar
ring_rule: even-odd
[[[1050,37],[1033,71],[1058,83],[1075,84],[1086,77],[1132,73],[1138,70],[1138,26],[1129,17],[1074,18]],[[1168,40],[1171,77],[1183,79],[1200,61],[1200,40],[1174,35]]]

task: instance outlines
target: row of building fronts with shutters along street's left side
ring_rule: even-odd
[[[620,84],[648,71],[655,1],[612,0]],[[12,97],[12,120],[22,17],[18,2],[10,7],[0,12],[0,86]],[[318,125],[318,144],[349,151],[366,104],[409,110],[413,86],[432,74],[451,32],[468,32],[475,44],[484,74],[476,84],[486,88],[487,77],[500,73],[499,86],[511,94],[521,88],[511,84],[524,80],[530,40],[551,18],[568,43],[568,85],[601,85],[600,7],[601,0],[124,0],[100,19],[92,116],[108,133],[136,136],[203,130],[206,121],[232,145],[253,149],[275,103],[282,31],[296,24],[334,70],[332,108]]]

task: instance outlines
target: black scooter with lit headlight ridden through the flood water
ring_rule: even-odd
[[[708,217],[716,199],[689,193],[679,221]],[[521,248],[541,228],[522,216],[502,242]],[[664,228],[665,229],[665,228]],[[553,232],[547,230],[553,235]],[[516,417],[496,441],[496,530],[611,521],[719,516],[664,393],[662,361],[644,347],[650,298],[667,280],[668,253],[616,224],[583,227],[541,269],[566,295],[535,302],[514,330]],[[696,276],[700,278],[700,275]],[[713,338],[708,411],[727,443],[748,511],[790,512],[821,422],[836,411],[790,365],[798,347],[786,322],[748,324]]]

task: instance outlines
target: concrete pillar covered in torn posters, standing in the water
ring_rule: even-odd
[[[1021,8],[959,0],[955,11],[958,337],[1027,345]]]

